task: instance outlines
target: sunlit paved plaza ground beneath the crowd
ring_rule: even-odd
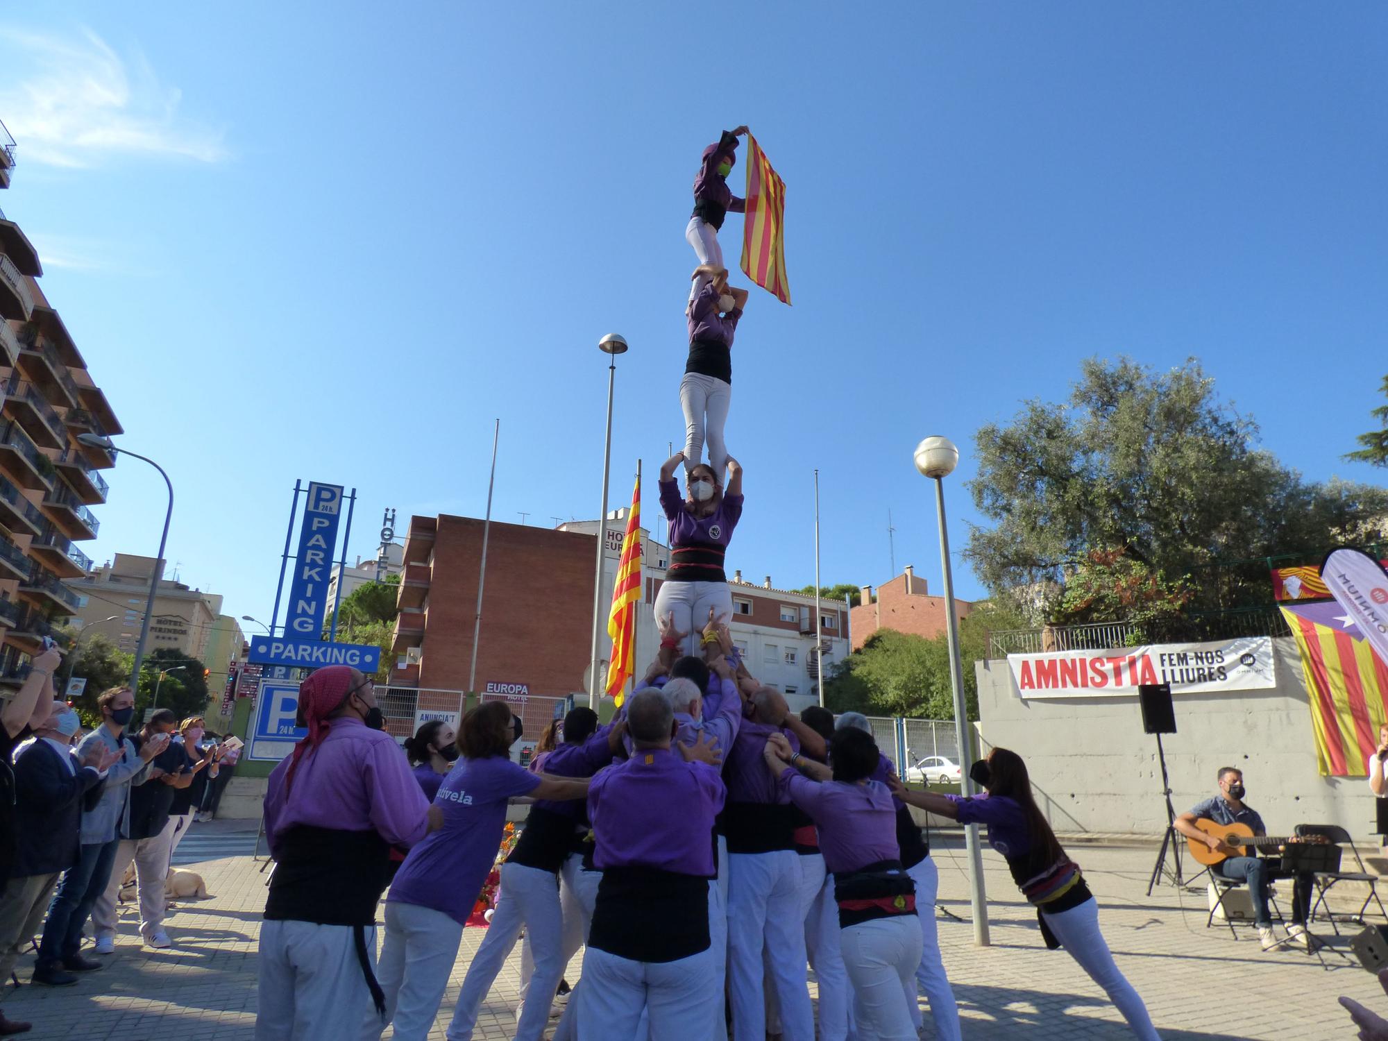
[[[178,859],[205,879],[211,899],[185,904],[168,922],[176,947],[142,949],[133,911],[121,920],[117,954],[75,987],[6,988],[4,1009],[35,1024],[26,1037],[85,1041],[221,1041],[250,1038],[255,1019],[255,938],[265,876],[251,856],[254,830],[243,822],[197,826]],[[1335,1002],[1348,994],[1388,1010],[1377,980],[1331,956],[1331,970],[1305,954],[1263,954],[1248,930],[1205,929],[1205,894],[1162,887],[1148,899],[1155,847],[1073,843],[1102,905],[1101,922],[1119,966],[1138,988],[1169,1041],[1192,1038],[1352,1038]],[[967,917],[966,859],[958,840],[937,837],[945,967],[963,1015],[965,1038],[1130,1037],[1102,992],[1063,952],[1047,951],[1035,915],[1019,899],[1001,858],[984,852],[992,947],[973,945]],[[197,859],[208,856],[214,859]],[[1289,897],[1289,894],[1287,894]],[[1284,906],[1285,906],[1284,899]],[[1357,906],[1357,901],[1356,901]],[[430,1038],[443,1038],[468,967],[482,940],[469,929],[452,984]],[[515,1019],[519,947],[498,977],[477,1037],[509,1038]],[[28,980],[32,958],[19,966]],[[577,959],[568,979],[577,979]],[[389,1037],[389,1034],[387,1034]],[[926,1037],[931,1037],[929,1027]],[[337,1041],[337,1040],[335,1040]],[[661,1038],[659,1041],[665,1041]],[[679,1040],[670,1040],[679,1041]]]

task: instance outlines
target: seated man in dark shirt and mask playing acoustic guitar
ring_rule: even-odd
[[[1281,873],[1281,858],[1277,856],[1237,856],[1237,847],[1226,845],[1220,838],[1206,834],[1195,827],[1201,818],[1213,820],[1217,824],[1248,824],[1255,836],[1266,836],[1263,818],[1258,811],[1244,802],[1244,772],[1233,766],[1221,766],[1219,772],[1219,795],[1191,806],[1188,813],[1181,813],[1176,819],[1176,830],[1183,836],[1205,843],[1213,852],[1227,854],[1228,859],[1220,861],[1210,870],[1221,879],[1233,881],[1246,881],[1248,892],[1253,898],[1253,924],[1258,927],[1258,938],[1264,951],[1271,951],[1283,942],[1292,942],[1306,947],[1306,912],[1310,908],[1312,874],[1301,872],[1292,881],[1292,924],[1287,930],[1287,941],[1273,936],[1273,917],[1267,911],[1267,887],[1274,879],[1285,879]]]

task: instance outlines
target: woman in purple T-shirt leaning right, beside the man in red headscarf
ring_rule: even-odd
[[[391,1020],[398,1041],[429,1035],[462,927],[501,845],[507,801],[582,799],[589,791],[586,779],[534,775],[511,762],[511,708],[504,701],[472,709],[461,729],[462,762],[434,795],[443,827],[409,851],[386,895],[386,942],[376,967],[386,1019],[369,1016],[362,1037],[380,1037]]]

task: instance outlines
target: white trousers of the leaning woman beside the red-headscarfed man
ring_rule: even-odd
[[[461,942],[462,926],[441,911],[387,901],[386,941],[376,962],[376,980],[386,994],[386,1019],[382,1022],[372,1006],[361,1027],[362,1041],[376,1041],[386,1023],[396,1024],[396,1041],[425,1041]]]

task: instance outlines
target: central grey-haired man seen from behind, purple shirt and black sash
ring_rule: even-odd
[[[663,693],[633,694],[627,727],[636,755],[589,786],[602,881],[583,962],[579,1035],[636,1037],[647,1012],[651,1037],[708,1041],[716,985],[709,834],[726,790],[706,736],[672,751],[679,725]]]

